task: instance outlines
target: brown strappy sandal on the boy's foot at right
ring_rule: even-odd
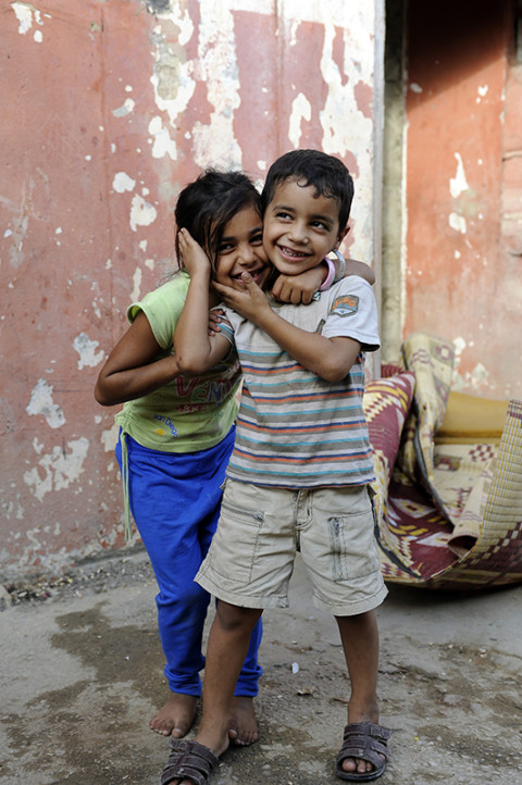
[[[387,740],[391,731],[375,722],[352,722],[345,727],[343,747],[335,761],[335,773],[340,780],[350,782],[370,782],[384,773],[388,760]],[[384,755],[384,761],[381,756]],[[345,771],[343,761],[347,758],[359,758],[371,763],[372,771],[364,773]]]

